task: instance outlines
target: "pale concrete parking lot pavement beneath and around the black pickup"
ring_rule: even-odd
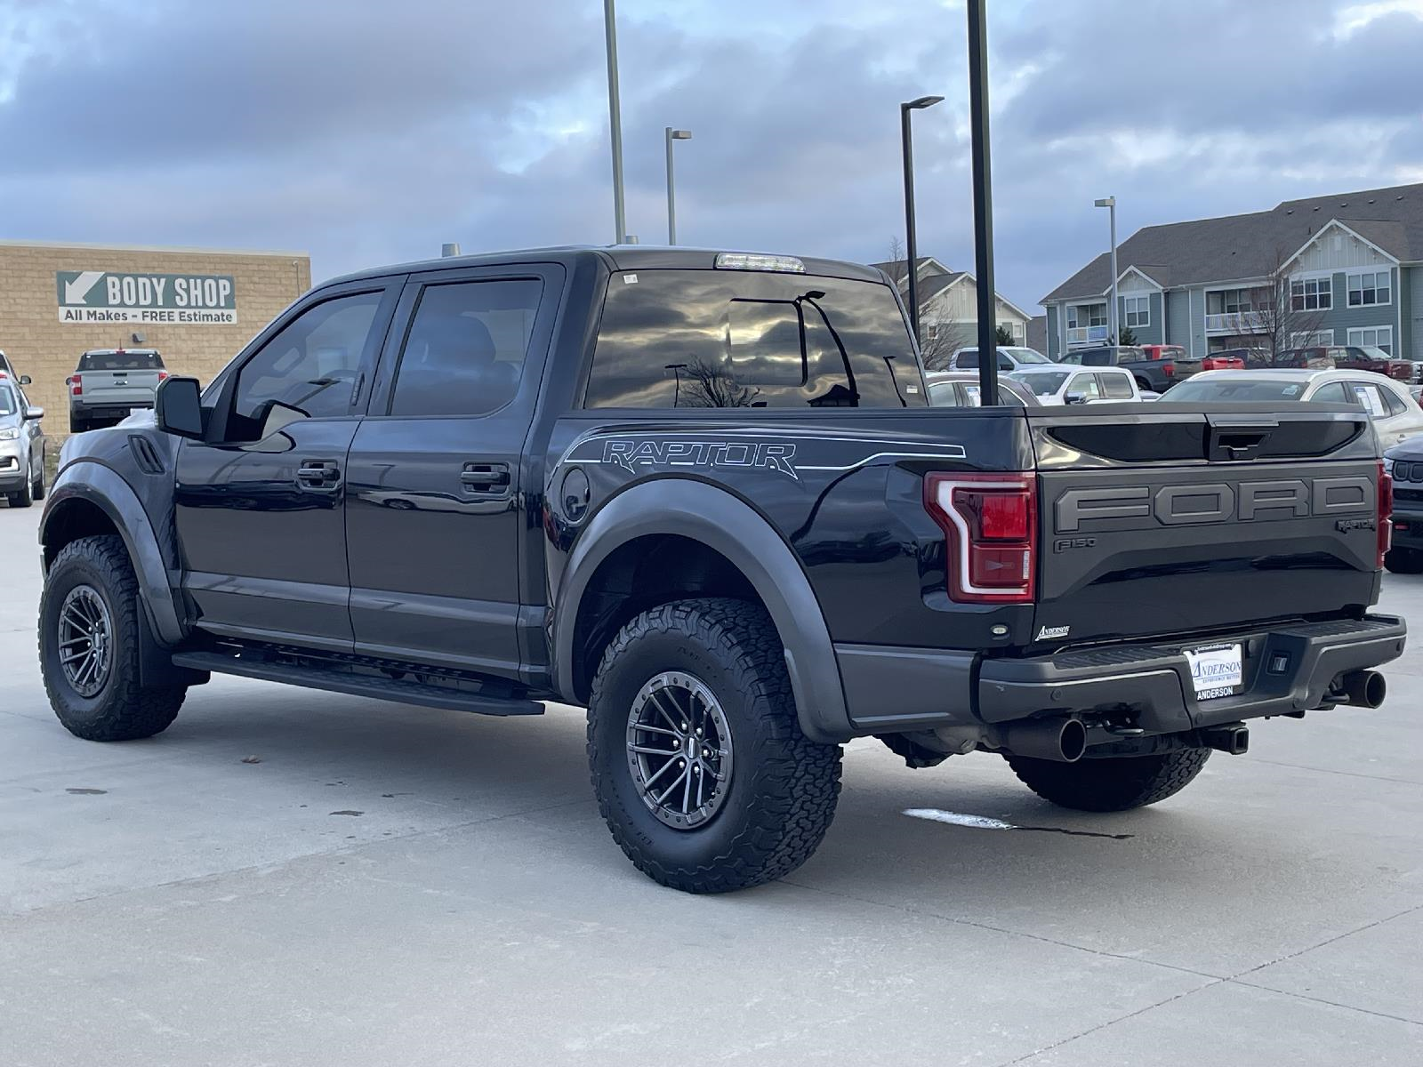
[[[40,508],[0,508],[0,1063],[1417,1064],[1423,653],[1180,797],[847,753],[790,879],[660,889],[583,721],[215,679],[149,741],[50,713]],[[1423,578],[1383,609],[1423,617]],[[936,809],[1010,824],[911,818]]]

